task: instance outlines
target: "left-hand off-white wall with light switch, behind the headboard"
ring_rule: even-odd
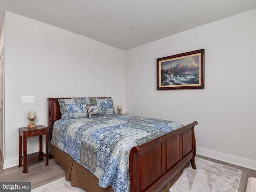
[[[28,126],[28,110],[36,110],[35,124],[48,126],[48,97],[110,96],[125,112],[124,76],[124,50],[6,12],[4,168],[18,165],[18,128]],[[26,95],[36,102],[22,103]],[[28,146],[38,151],[38,137]]]

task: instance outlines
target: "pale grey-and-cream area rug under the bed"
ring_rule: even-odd
[[[242,170],[196,158],[196,170],[186,168],[170,192],[238,192]],[[65,177],[35,188],[32,192],[84,192]]]

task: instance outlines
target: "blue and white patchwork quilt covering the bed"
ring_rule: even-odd
[[[129,154],[143,144],[182,127],[167,120],[112,114],[54,122],[52,144],[92,172],[103,188],[130,191]]]

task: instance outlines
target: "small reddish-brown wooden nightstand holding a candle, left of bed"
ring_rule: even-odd
[[[20,132],[20,159],[19,166],[22,166],[23,160],[23,173],[27,173],[27,162],[31,162],[34,160],[42,160],[45,157],[45,166],[48,165],[48,143],[47,143],[47,135],[48,135],[48,127],[43,125],[37,125],[34,128],[22,127],[19,128]],[[45,154],[42,152],[42,136],[45,135]],[[27,138],[39,136],[39,152],[27,154]],[[23,137],[23,156],[22,156],[22,137]]]

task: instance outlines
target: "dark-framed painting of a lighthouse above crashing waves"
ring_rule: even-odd
[[[157,90],[204,89],[204,49],[158,58]]]

